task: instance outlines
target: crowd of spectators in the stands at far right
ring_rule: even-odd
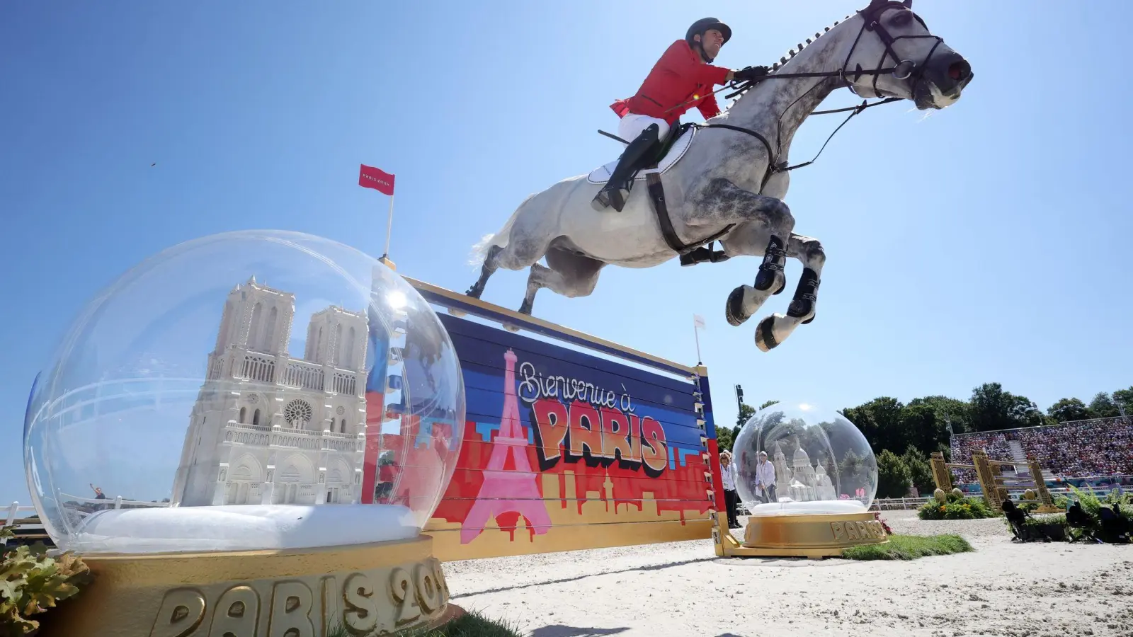
[[[1024,456],[1034,456],[1039,466],[1056,477],[1133,474],[1131,417],[953,435],[951,461],[970,465],[972,451],[979,450],[993,460],[1014,460],[1011,441],[1017,441]],[[956,482],[976,482],[972,469],[953,468],[952,474]]]

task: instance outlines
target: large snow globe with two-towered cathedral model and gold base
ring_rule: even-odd
[[[78,632],[400,630],[446,612],[420,532],[463,419],[448,332],[387,262],[236,231],[83,307],[35,377],[24,459],[46,532],[96,576]]]

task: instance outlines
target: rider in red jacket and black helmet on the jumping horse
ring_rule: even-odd
[[[689,109],[696,107],[705,119],[719,114],[713,86],[732,79],[755,79],[767,74],[765,67],[733,71],[713,66],[721,46],[732,37],[732,29],[716,18],[702,18],[689,27],[684,40],[673,42],[653,66],[632,97],[610,105],[617,113],[617,135],[629,142],[617,168],[594,197],[594,206],[613,206],[621,212],[629,196],[629,178],[637,163],[665,138]]]

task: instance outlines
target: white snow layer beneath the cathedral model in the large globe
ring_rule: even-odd
[[[169,553],[306,549],[409,540],[418,524],[400,504],[239,504],[110,509],[66,538],[79,553]]]

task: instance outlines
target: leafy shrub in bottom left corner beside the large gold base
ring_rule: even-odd
[[[0,537],[14,537],[0,528]],[[78,593],[91,580],[91,570],[74,553],[48,557],[42,542],[3,552],[0,561],[0,634],[31,635],[40,628],[34,615]]]

